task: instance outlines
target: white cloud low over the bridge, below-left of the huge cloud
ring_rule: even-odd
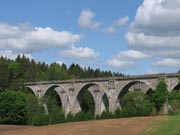
[[[111,58],[107,61],[107,64],[114,68],[128,69],[134,66],[136,60],[141,60],[148,57],[149,56],[147,54],[136,50],[126,50],[111,56]]]

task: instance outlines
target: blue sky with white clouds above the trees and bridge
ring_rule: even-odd
[[[0,55],[125,74],[180,68],[180,0],[0,0]]]

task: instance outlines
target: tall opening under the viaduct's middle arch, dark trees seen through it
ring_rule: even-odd
[[[96,83],[84,84],[76,93],[74,103],[75,113],[84,111],[91,116],[96,113],[95,93],[99,92],[99,85]]]

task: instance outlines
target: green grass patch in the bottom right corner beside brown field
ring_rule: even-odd
[[[180,115],[154,121],[139,135],[180,135]]]

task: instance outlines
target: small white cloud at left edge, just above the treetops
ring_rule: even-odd
[[[20,55],[20,56],[24,55],[29,59],[33,59],[31,54],[15,53],[15,52],[12,52],[11,50],[0,50],[0,56],[6,57],[8,59],[13,59],[14,60],[14,59],[17,58],[18,55]]]

